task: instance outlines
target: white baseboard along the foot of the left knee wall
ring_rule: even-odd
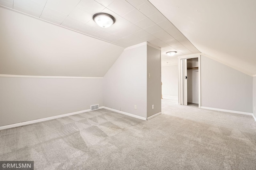
[[[6,128],[20,127],[20,126],[29,125],[29,124],[38,123],[38,122],[43,122],[43,121],[49,121],[49,120],[52,120],[52,119],[57,119],[57,118],[60,118],[60,117],[76,115],[76,114],[84,113],[84,112],[88,112],[88,111],[91,111],[91,110],[87,109],[87,110],[84,110],[84,111],[67,113],[67,114],[64,114],[64,115],[58,115],[58,116],[53,116],[53,117],[46,117],[46,118],[43,118],[43,119],[36,119],[36,120],[33,120],[33,121],[26,121],[26,122],[21,122],[21,123],[15,123],[15,124],[12,124],[12,125],[2,126],[2,127],[0,127],[0,130],[6,129]]]

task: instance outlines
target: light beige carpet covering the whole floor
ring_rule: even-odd
[[[100,109],[0,130],[0,160],[35,170],[255,170],[251,116],[162,99],[149,121]]]

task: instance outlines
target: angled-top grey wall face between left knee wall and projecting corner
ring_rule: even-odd
[[[146,75],[146,43],[123,51],[104,76],[104,106],[146,118]]]

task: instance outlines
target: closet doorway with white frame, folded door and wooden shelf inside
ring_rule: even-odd
[[[200,65],[200,55],[178,57],[179,105],[194,103],[201,107]]]

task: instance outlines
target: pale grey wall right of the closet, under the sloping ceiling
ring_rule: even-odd
[[[201,106],[252,113],[252,77],[202,55]]]

